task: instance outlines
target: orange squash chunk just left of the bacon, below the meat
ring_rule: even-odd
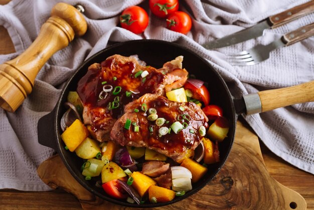
[[[132,187],[134,187],[141,197],[148,191],[151,185],[156,185],[156,182],[152,178],[139,171],[134,171],[131,177],[133,177]]]

